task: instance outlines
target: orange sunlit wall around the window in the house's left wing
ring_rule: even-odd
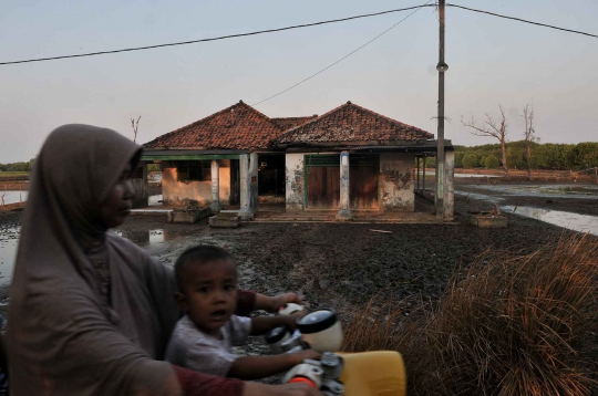
[[[218,161],[220,204],[230,204],[230,163]],[[163,163],[164,164],[164,163]],[[162,168],[162,199],[164,205],[186,205],[188,199],[195,199],[200,206],[212,204],[212,180],[209,181],[177,181],[176,163],[164,164]]]

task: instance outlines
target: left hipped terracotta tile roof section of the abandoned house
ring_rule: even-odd
[[[282,131],[268,116],[243,101],[148,142],[145,148],[266,148]]]

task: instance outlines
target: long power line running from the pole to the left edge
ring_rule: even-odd
[[[429,1],[430,2],[430,1]],[[37,58],[37,59],[29,59],[23,61],[9,61],[9,62],[0,62],[0,65],[7,65],[7,64],[17,64],[17,63],[31,63],[31,62],[43,62],[43,61],[55,61],[59,59],[70,59],[70,58],[83,58],[83,56],[94,56],[94,55],[105,55],[111,53],[120,53],[120,52],[131,52],[131,51],[142,51],[142,50],[152,50],[152,49],[158,49],[164,46],[175,46],[175,45],[186,45],[186,44],[195,44],[195,43],[203,43],[208,41],[218,41],[218,40],[226,40],[226,39],[235,39],[235,38],[243,38],[247,35],[257,35],[257,34],[265,34],[265,33],[275,33],[275,32],[281,32],[285,30],[292,30],[292,29],[301,29],[301,28],[310,28],[310,27],[317,27],[320,24],[328,24],[328,23],[337,23],[337,22],[346,22],[353,19],[360,19],[360,18],[370,18],[370,17],[378,17],[383,15],[386,13],[393,13],[393,12],[401,12],[401,11],[409,11],[413,9],[420,9],[423,6],[413,6],[408,8],[400,8],[395,10],[389,10],[389,11],[381,11],[381,12],[374,12],[374,13],[365,13],[361,15],[354,15],[349,18],[341,18],[341,19],[332,19],[329,21],[321,21],[321,22],[313,22],[313,23],[303,23],[303,24],[296,24],[292,27],[286,27],[286,28],[277,28],[277,29],[268,29],[268,30],[258,30],[255,32],[249,33],[238,33],[238,34],[228,34],[228,35],[220,35],[217,38],[210,38],[210,39],[199,39],[199,40],[190,40],[190,41],[181,41],[176,43],[167,43],[167,44],[156,44],[156,45],[145,45],[145,46],[135,46],[135,48],[128,48],[128,49],[122,49],[122,50],[110,50],[110,51],[99,51],[99,52],[87,52],[82,54],[75,54],[75,55],[62,55],[62,56],[50,56],[50,58]]]

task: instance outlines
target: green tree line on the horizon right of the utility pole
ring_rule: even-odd
[[[582,170],[598,167],[598,142],[586,142],[579,144],[529,144],[532,169],[560,169],[560,170]],[[482,146],[455,146],[455,167],[472,167],[472,163],[465,165],[468,155],[475,158],[484,158],[483,166],[486,166],[485,158],[494,156],[502,163],[503,153],[499,144],[488,144]],[[456,158],[462,158],[457,164]],[[507,163],[509,168],[527,169],[527,155],[525,140],[507,143]],[[480,161],[476,163],[477,166]],[[501,164],[502,165],[502,164]]]

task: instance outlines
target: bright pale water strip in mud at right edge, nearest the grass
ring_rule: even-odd
[[[506,212],[542,220],[550,225],[579,232],[589,232],[598,236],[598,217],[577,215],[568,211],[538,209],[524,206],[504,206],[501,210]]]

